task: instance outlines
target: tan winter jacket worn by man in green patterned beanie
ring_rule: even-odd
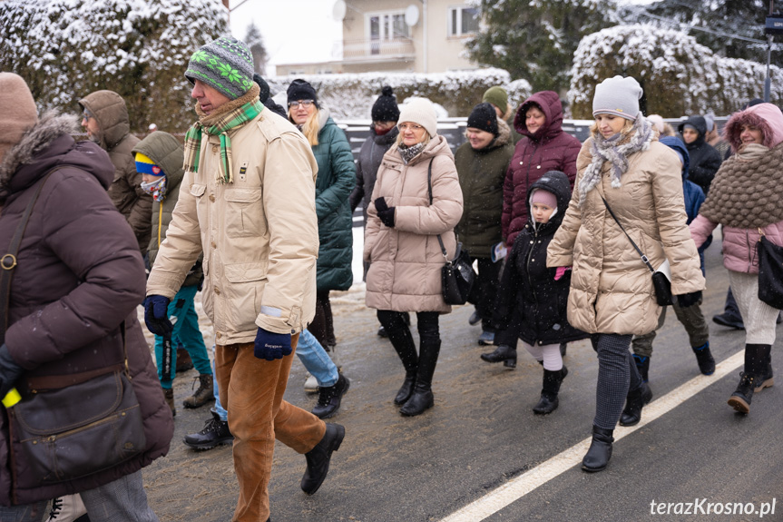
[[[147,281],[147,295],[171,299],[203,245],[204,310],[220,345],[252,342],[257,327],[305,328],[318,259],[318,165],[304,136],[267,109],[229,136],[234,182],[216,182],[220,136],[204,133]]]

